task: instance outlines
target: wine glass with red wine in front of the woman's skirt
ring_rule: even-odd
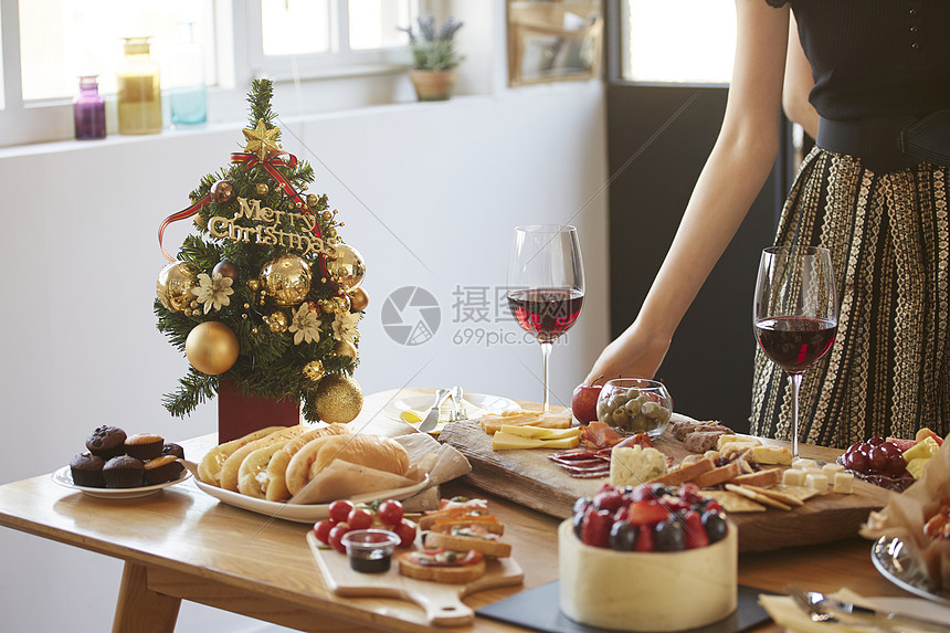
[[[837,291],[828,250],[817,246],[763,250],[752,324],[759,347],[789,377],[792,455],[798,457],[802,374],[827,354],[837,335]]]

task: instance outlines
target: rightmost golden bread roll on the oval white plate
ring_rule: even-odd
[[[297,451],[287,464],[287,489],[292,495],[296,495],[307,485],[307,482],[335,460],[368,466],[400,477],[409,471],[409,453],[402,444],[389,437],[378,435],[317,437]],[[374,489],[386,490],[389,488],[378,486]],[[340,494],[338,498],[342,498],[342,496]]]

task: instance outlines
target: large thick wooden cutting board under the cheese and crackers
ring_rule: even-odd
[[[674,415],[677,415],[674,413]],[[577,479],[564,473],[547,455],[556,451],[492,451],[492,436],[477,421],[447,424],[441,442],[451,443],[472,463],[468,481],[481,489],[517,502],[541,513],[568,518],[578,497],[597,494],[606,477]],[[766,444],[788,445],[774,440]],[[682,442],[665,433],[656,447],[678,463],[689,454]],[[802,446],[802,454],[832,461],[841,453],[833,449]],[[767,551],[783,547],[813,545],[856,536],[872,510],[887,504],[887,490],[855,479],[854,494],[814,497],[791,511],[732,513],[739,527],[739,551]]]

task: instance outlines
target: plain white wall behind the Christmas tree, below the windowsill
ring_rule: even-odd
[[[278,88],[277,112],[284,98]],[[310,192],[328,193],[368,265],[357,371],[367,392],[460,383],[539,399],[537,344],[453,342],[468,326],[516,331],[510,321],[453,323],[453,291],[505,284],[514,225],[571,222],[588,297],[552,355],[555,402],[569,403],[608,342],[603,105],[602,85],[571,83],[282,122],[285,148],[314,165]],[[165,263],[156,232],[201,177],[226,166],[242,125],[0,150],[0,483],[66,464],[98,424],[172,441],[215,429],[213,404],[182,421],[159,402],[186,360],[155,329]],[[167,247],[186,224],[167,232]],[[381,327],[384,297],[403,285],[425,287],[442,307],[441,328],[421,346],[399,346]],[[3,630],[109,627],[118,561],[9,529],[0,556]],[[178,627],[258,629],[194,605]]]

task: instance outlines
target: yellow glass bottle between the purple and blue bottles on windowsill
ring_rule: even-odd
[[[149,60],[148,38],[126,38],[125,60],[116,74],[119,134],[161,131],[158,65]]]

